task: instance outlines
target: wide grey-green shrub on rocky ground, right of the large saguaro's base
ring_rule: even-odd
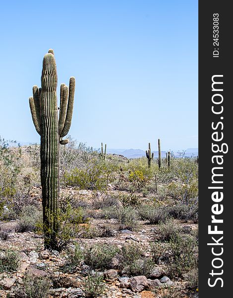
[[[85,247],[84,262],[92,269],[110,269],[111,261],[117,252],[118,248],[114,245],[94,244]]]

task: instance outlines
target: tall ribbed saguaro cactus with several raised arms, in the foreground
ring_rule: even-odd
[[[59,145],[67,135],[73,113],[75,78],[70,77],[69,87],[60,86],[60,110],[58,119],[57,67],[54,51],[49,50],[43,60],[41,88],[33,86],[29,98],[32,120],[41,136],[41,185],[43,199],[43,222],[45,248],[56,248],[58,232],[57,213],[59,197]]]

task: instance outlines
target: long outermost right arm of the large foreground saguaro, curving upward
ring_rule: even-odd
[[[75,78],[71,76],[69,79],[69,98],[68,98],[66,117],[65,117],[64,127],[62,129],[62,132],[60,133],[61,138],[63,138],[68,134],[68,131],[71,126],[71,119],[73,114],[74,90],[75,90]]]

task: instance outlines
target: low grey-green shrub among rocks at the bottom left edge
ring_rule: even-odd
[[[47,277],[26,277],[23,280],[24,291],[28,298],[47,298],[50,280]]]

